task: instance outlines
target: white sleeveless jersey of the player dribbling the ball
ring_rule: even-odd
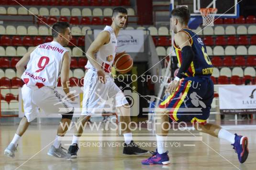
[[[110,73],[117,49],[117,38],[112,27],[106,26],[103,31],[107,31],[110,33],[110,42],[100,47],[99,51],[96,52],[94,56],[96,58],[96,61],[101,65],[101,68],[105,72]],[[90,64],[89,61],[87,62],[85,68],[96,71],[96,69]]]

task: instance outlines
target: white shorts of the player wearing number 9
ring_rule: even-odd
[[[57,91],[47,86],[38,88],[37,86],[27,87],[23,85],[23,107],[28,122],[33,121],[33,119],[37,117],[39,108],[41,108],[45,114],[65,114],[73,111],[73,106],[67,99],[63,99],[63,97],[64,96],[60,95]]]

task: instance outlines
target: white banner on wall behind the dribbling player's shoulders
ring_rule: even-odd
[[[94,39],[102,30],[94,30]],[[117,37],[117,52],[143,53],[144,33],[143,30],[120,30]]]

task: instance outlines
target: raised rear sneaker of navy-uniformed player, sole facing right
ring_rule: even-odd
[[[234,151],[238,155],[238,160],[240,163],[244,163],[245,160],[248,157],[249,149],[248,149],[248,138],[243,137],[241,135],[234,134],[234,144],[231,144],[234,146]]]

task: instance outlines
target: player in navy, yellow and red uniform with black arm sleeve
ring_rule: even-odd
[[[165,109],[157,113],[161,127],[157,128],[157,149],[142,164],[168,164],[166,139],[168,116],[175,122],[191,122],[196,130],[217,138],[226,139],[234,146],[238,159],[244,163],[248,157],[248,138],[232,134],[219,125],[207,123],[214,96],[211,74],[213,66],[201,38],[188,28],[190,12],[187,7],[171,11],[172,29],[175,33],[174,48],[180,66],[175,79],[168,85],[166,96],[160,104]],[[195,112],[196,111],[196,112]]]

